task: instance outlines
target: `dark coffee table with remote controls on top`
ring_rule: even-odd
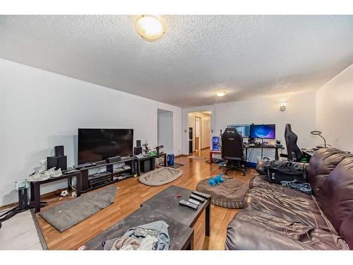
[[[162,192],[152,196],[151,199],[141,204],[142,208],[149,208],[151,212],[159,212],[179,223],[189,226],[190,228],[196,223],[198,218],[205,211],[205,235],[210,236],[210,198],[205,199],[205,202],[198,206],[195,211],[186,206],[179,205],[179,201],[183,199],[188,201],[190,199],[191,190],[182,187],[171,185]],[[179,196],[180,197],[179,197]]]

